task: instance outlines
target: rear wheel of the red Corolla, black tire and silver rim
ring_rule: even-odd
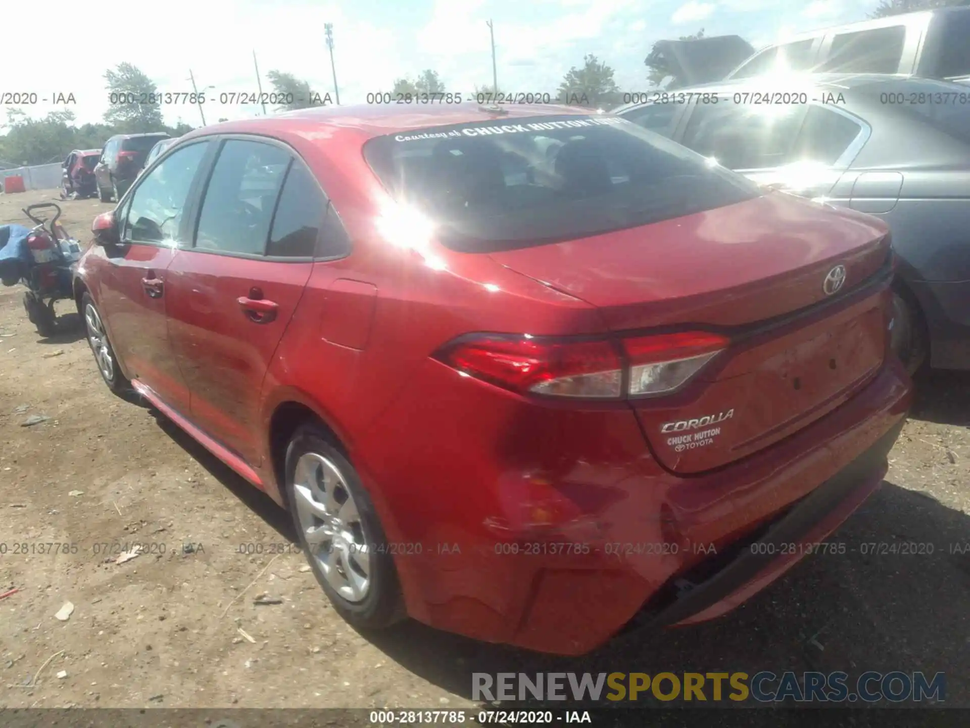
[[[300,546],[340,616],[371,630],[403,619],[397,570],[371,498],[320,425],[302,425],[290,439],[285,489]]]

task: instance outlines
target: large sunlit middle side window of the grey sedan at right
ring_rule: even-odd
[[[695,108],[682,144],[728,169],[777,167],[792,161],[803,108],[705,104]]]

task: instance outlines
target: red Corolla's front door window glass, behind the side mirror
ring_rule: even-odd
[[[123,237],[135,243],[184,243],[178,231],[188,193],[209,148],[200,142],[178,149],[139,182],[125,215]]]

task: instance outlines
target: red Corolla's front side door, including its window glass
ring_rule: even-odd
[[[128,376],[183,413],[189,396],[169,343],[167,272],[187,239],[185,212],[209,148],[187,145],[138,182],[116,214],[121,245],[104,248],[107,265],[98,277],[101,314]]]

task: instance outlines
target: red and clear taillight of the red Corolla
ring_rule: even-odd
[[[481,334],[442,347],[435,358],[520,394],[620,399],[678,389],[727,344],[727,338],[705,332],[623,341]]]

